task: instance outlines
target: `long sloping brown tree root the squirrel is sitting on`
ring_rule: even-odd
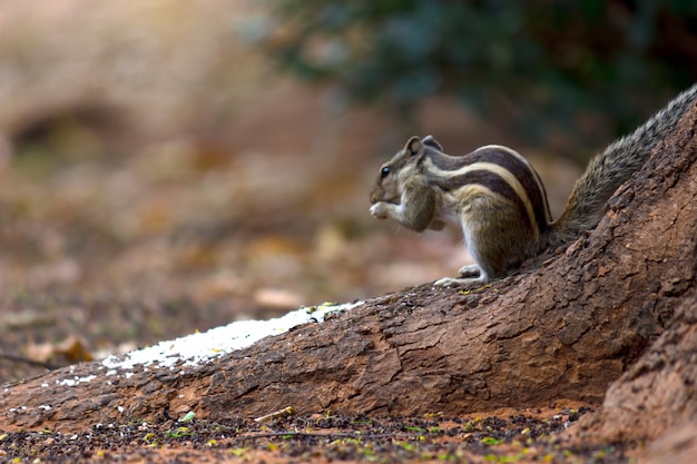
[[[675,308],[694,299],[695,120],[693,109],[666,135],[592,233],[530,272],[469,294],[424,285],[386,295],[207,365],[136,367],[118,379],[99,363],[52,372],[0,391],[0,430],[286,406],[414,415],[600,404]],[[651,372],[637,368],[629,379]],[[57,383],[90,374],[76,386]]]

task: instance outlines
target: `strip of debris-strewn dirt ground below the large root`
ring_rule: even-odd
[[[24,462],[457,462],[626,463],[627,445],[580,446],[559,437],[589,409],[495,416],[345,417],[331,412],[255,422],[97,424],[80,434],[0,435],[0,457]],[[632,446],[634,447],[634,446]],[[14,460],[14,461],[12,461]]]

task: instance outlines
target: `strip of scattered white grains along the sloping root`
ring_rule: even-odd
[[[196,333],[174,340],[160,342],[147,348],[126,353],[122,356],[108,356],[101,364],[116,374],[116,369],[130,369],[136,365],[170,367],[180,361],[185,366],[207,363],[226,353],[246,348],[269,335],[279,335],[306,323],[321,323],[328,313],[350,310],[364,302],[343,305],[323,304],[302,307],[285,316],[268,320],[239,320],[208,332]]]

